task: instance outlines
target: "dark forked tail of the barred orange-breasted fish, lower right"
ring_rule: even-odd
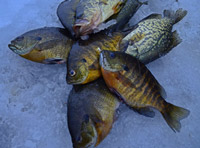
[[[162,111],[164,119],[174,132],[180,132],[180,120],[186,118],[189,113],[189,110],[175,106],[170,103],[167,103],[165,109]]]

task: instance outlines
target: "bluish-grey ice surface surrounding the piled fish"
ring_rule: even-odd
[[[35,28],[61,26],[56,8],[62,0],[0,0],[0,148],[70,148],[66,102],[71,86],[65,65],[41,65],[8,49],[14,37]],[[191,111],[174,133],[159,112],[155,118],[122,107],[99,148],[199,148],[200,5],[198,0],[149,0],[131,20],[152,12],[184,8],[174,26],[183,42],[148,65],[167,92],[167,100]]]

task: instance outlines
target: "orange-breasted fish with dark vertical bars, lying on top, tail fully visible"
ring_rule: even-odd
[[[108,88],[132,108],[157,109],[174,132],[190,111],[165,100],[166,92],[147,67],[135,57],[120,51],[102,51],[100,65]]]

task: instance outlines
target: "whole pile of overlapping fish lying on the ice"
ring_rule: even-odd
[[[157,109],[174,132],[189,110],[167,101],[166,92],[144,64],[181,43],[173,25],[186,10],[151,14],[134,26],[130,18],[147,2],[68,0],[57,15],[64,28],[45,27],[15,38],[9,48],[28,60],[66,63],[68,127],[74,148],[97,146],[110,132],[121,103],[154,117]]]

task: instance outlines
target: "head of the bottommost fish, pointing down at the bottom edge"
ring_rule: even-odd
[[[74,148],[92,148],[97,142],[97,131],[95,124],[89,115],[83,117],[80,132],[72,136]]]

